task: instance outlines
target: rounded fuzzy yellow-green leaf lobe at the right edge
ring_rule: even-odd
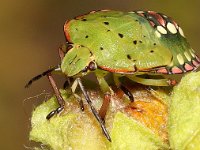
[[[200,72],[187,74],[174,88],[168,132],[172,149],[200,149]]]

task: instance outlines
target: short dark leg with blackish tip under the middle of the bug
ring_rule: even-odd
[[[134,101],[133,94],[129,91],[128,88],[126,88],[124,85],[122,85],[122,83],[119,80],[120,76],[113,74],[113,78],[114,78],[115,85],[117,87],[119,87],[124,92],[124,94],[126,94],[128,96],[128,98],[131,102],[133,102]]]

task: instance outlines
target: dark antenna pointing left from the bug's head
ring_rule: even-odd
[[[25,85],[25,88],[30,87],[31,84],[32,84],[33,82],[39,80],[39,79],[42,78],[43,76],[46,76],[48,73],[51,73],[51,72],[57,71],[57,70],[60,70],[60,66],[59,66],[59,65],[58,65],[58,66],[55,66],[55,67],[53,67],[53,68],[50,68],[50,69],[44,71],[43,73],[41,73],[41,74],[39,74],[39,75],[33,77],[33,78],[32,78],[31,80],[29,80],[28,83]]]

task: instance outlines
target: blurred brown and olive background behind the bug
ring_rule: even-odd
[[[200,1],[197,0],[1,0],[0,2],[0,149],[31,149],[30,116],[50,95],[46,78],[31,88],[33,76],[59,63],[67,19],[91,10],[155,10],[173,17],[200,54]],[[59,85],[63,80],[57,77]]]

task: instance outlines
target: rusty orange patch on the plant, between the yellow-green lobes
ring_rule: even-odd
[[[125,111],[135,120],[167,140],[167,106],[154,96],[146,97],[149,101],[137,100],[130,103]]]

